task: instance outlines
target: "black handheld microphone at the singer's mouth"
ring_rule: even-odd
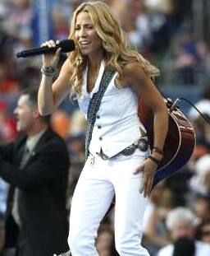
[[[16,58],[25,58],[30,56],[36,56],[39,54],[53,54],[58,48],[62,49],[62,53],[69,53],[75,49],[74,40],[62,40],[55,47],[42,46],[34,49],[26,49],[16,54]]]

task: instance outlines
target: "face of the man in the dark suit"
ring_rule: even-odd
[[[14,114],[16,114],[17,119],[17,131],[29,132],[34,123],[33,109],[29,105],[29,95],[21,95],[17,102],[16,109],[14,110]]]

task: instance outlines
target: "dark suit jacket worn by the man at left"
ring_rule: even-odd
[[[66,144],[49,128],[39,139],[25,167],[20,169],[26,138],[23,136],[16,142],[0,146],[0,177],[11,184],[5,247],[14,244],[16,239],[16,232],[10,234],[11,229],[7,230],[13,222],[11,198],[16,187],[20,189],[18,206],[22,230],[34,255],[61,254],[69,249],[66,212],[69,157]]]

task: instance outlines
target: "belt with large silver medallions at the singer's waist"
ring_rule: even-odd
[[[148,139],[145,138],[139,138],[139,140],[133,144],[131,144],[129,147],[126,147],[124,150],[117,153],[115,156],[108,157],[106,154],[103,153],[103,150],[101,148],[101,151],[97,155],[100,156],[103,160],[111,159],[113,157],[123,155],[123,156],[131,156],[134,154],[135,150],[138,148],[140,151],[148,151],[149,142]]]

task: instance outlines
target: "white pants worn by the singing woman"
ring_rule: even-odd
[[[75,188],[70,216],[72,256],[97,256],[94,247],[98,226],[116,195],[115,239],[121,256],[149,256],[141,245],[147,198],[139,193],[142,173],[133,174],[148,152],[103,160],[89,156]]]

